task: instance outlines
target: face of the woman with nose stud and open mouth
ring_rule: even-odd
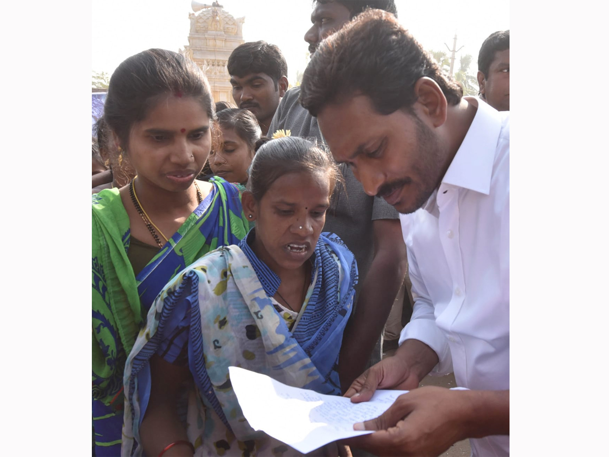
[[[276,274],[297,269],[313,255],[326,221],[329,194],[327,172],[295,172],[275,180],[253,204],[254,249]]]

